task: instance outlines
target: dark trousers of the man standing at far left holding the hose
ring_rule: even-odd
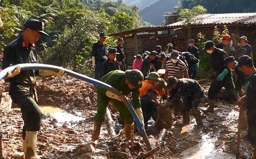
[[[39,131],[41,129],[42,113],[35,101],[36,94],[31,90],[12,91],[10,88],[10,96],[13,102],[21,108],[24,121],[22,139],[25,140],[26,131]]]

